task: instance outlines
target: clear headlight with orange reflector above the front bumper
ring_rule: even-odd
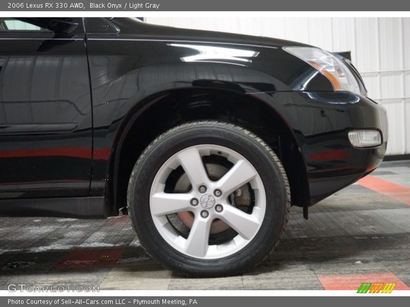
[[[329,79],[335,91],[360,94],[360,86],[351,70],[330,52],[314,47],[284,47],[285,51],[311,64]]]

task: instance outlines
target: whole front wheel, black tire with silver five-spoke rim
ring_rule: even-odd
[[[127,192],[142,247],[191,277],[236,275],[258,265],[279,243],[290,204],[273,150],[250,131],[217,121],[160,135],[136,162]]]

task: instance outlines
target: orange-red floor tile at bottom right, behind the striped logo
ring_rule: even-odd
[[[362,282],[394,282],[395,290],[410,290],[406,284],[393,273],[348,274],[318,276],[324,290],[358,290]]]

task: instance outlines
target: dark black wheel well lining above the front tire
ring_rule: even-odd
[[[194,120],[241,125],[268,143],[288,176],[292,205],[310,203],[306,166],[293,128],[272,104],[242,92],[189,88],[159,92],[136,103],[122,120],[109,163],[108,200],[112,215],[126,206],[131,170],[144,149],[171,127]],[[144,133],[141,133],[144,129]]]

